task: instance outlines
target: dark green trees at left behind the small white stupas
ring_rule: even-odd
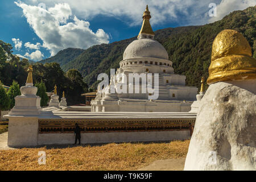
[[[17,81],[19,86],[24,86],[27,79],[27,68],[29,61],[20,60],[13,55],[11,44],[0,40],[0,84],[10,86]],[[57,94],[62,96],[63,91],[67,97],[68,105],[84,103],[82,93],[88,92],[88,86],[83,81],[83,77],[76,69],[64,72],[57,63],[36,63],[33,64],[33,82],[37,85],[41,81],[46,85],[47,92],[52,92],[57,85]]]

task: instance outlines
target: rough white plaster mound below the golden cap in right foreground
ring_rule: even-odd
[[[256,80],[234,82],[243,88],[217,82],[201,100],[184,170],[256,170]]]

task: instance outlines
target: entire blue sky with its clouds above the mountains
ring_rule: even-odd
[[[215,16],[209,16],[210,3],[216,5]],[[0,40],[11,43],[14,54],[39,61],[64,48],[86,49],[137,36],[146,5],[155,31],[211,23],[255,4],[256,0],[1,0]]]

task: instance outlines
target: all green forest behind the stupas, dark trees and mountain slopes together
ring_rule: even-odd
[[[241,32],[249,41],[256,58],[255,22],[256,6],[234,11],[222,20],[204,26],[158,30],[155,31],[155,39],[166,48],[169,59],[174,63],[175,73],[187,76],[187,85],[200,87],[201,76],[208,77],[212,43],[220,31],[230,28]],[[92,46],[86,50],[64,49],[33,65],[34,83],[43,81],[47,92],[52,91],[56,84],[59,96],[63,91],[67,93],[69,105],[84,103],[81,93],[89,91],[88,85],[96,89],[99,73],[109,74],[110,68],[119,68],[125,48],[135,39]],[[15,80],[23,86],[30,63],[13,55],[12,49],[10,44],[0,40],[0,81],[10,86]]]

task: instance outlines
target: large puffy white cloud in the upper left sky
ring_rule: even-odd
[[[42,46],[50,50],[51,56],[68,47],[86,49],[96,44],[109,43],[109,35],[104,30],[98,29],[94,33],[89,28],[90,23],[73,15],[67,3],[59,3],[49,9],[21,1],[15,3],[23,9],[27,22],[43,40]],[[40,13],[45,16],[40,16]]]

